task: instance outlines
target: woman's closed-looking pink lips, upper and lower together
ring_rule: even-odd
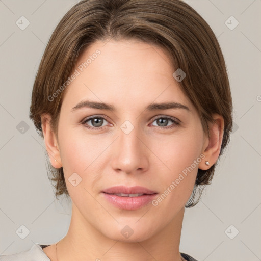
[[[127,196],[110,195],[112,193],[124,193],[124,194],[143,193],[144,195],[137,196],[137,197],[136,196],[127,197]],[[139,208],[151,202],[158,193],[141,186],[135,186],[135,187],[116,186],[103,190],[102,194],[110,203],[112,203],[114,206],[118,208],[121,208],[123,210],[138,210]]]

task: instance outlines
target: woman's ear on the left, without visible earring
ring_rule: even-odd
[[[44,114],[41,116],[42,130],[50,163],[54,168],[58,169],[62,167],[62,161],[55,133],[50,126],[50,119],[51,117],[49,114]]]

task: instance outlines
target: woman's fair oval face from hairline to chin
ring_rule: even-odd
[[[171,224],[192,193],[205,144],[199,116],[159,47],[98,41],[73,73],[64,90],[58,145],[74,215],[108,238],[127,240],[125,229],[133,231],[128,241],[145,240]],[[87,100],[114,110],[84,105]],[[114,186],[141,186],[150,195],[104,192]]]

